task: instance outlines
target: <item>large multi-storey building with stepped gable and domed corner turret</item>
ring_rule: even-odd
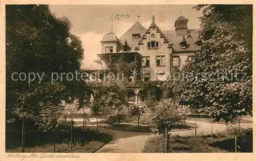
[[[156,24],[153,16],[148,29],[137,21],[120,38],[112,31],[105,34],[100,41],[102,52],[97,54],[97,65],[86,65],[82,70],[97,80],[105,79],[110,72],[122,73],[122,79],[119,79],[120,75],[113,78],[127,84],[127,95],[134,96],[133,101],[143,102],[145,96],[141,86],[133,83],[136,74],[140,81],[165,80],[175,68],[181,68],[201,45],[200,29],[188,29],[188,19],[183,16],[174,22],[174,31],[161,31]]]

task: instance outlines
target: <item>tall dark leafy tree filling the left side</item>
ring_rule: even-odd
[[[40,101],[59,103],[51,93],[51,73],[79,70],[83,58],[82,43],[70,30],[68,18],[57,18],[48,5],[6,5],[6,120],[17,114],[24,125],[38,116]],[[38,78],[14,81],[14,72],[44,73],[46,84],[38,85]]]

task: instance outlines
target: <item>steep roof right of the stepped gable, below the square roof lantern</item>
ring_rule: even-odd
[[[165,38],[169,40],[169,44],[173,44],[173,52],[189,52],[189,51],[197,51],[197,44],[195,42],[197,41],[198,37],[198,31],[200,29],[188,29],[187,34],[190,34],[189,37],[184,35],[184,39],[187,42],[187,48],[182,49],[180,47],[180,42],[183,39],[183,35],[176,35],[176,31],[162,31],[162,33],[165,35]]]

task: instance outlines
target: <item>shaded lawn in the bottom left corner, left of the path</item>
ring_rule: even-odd
[[[70,133],[68,131],[58,134],[56,139],[56,152],[77,152],[92,153],[97,151],[113,137],[97,131],[87,131],[74,129],[73,145],[70,146]],[[6,152],[21,152],[20,132],[6,133]],[[53,137],[51,133],[28,131],[25,136],[25,152],[54,152]]]

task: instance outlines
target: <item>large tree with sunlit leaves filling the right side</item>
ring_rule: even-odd
[[[226,124],[252,111],[252,6],[199,5],[201,50],[183,66],[180,102]]]

